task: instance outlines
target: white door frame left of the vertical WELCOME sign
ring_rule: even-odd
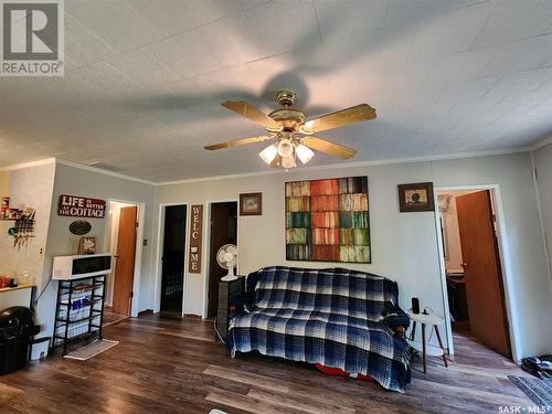
[[[188,201],[176,202],[176,203],[160,203],[159,204],[159,220],[158,220],[158,231],[157,231],[157,252],[156,252],[156,270],[155,270],[155,283],[153,283],[153,312],[161,311],[161,278],[163,273],[163,263],[161,261],[163,244],[164,244],[164,212],[168,206],[174,205],[185,205],[185,230],[184,230],[184,268],[183,268],[183,282],[182,282],[182,316],[184,316],[184,305],[185,305],[185,287],[188,282],[188,250],[190,248],[190,241],[188,240],[188,229],[190,223],[190,205]]]

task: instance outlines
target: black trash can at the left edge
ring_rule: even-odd
[[[39,333],[33,314],[23,306],[0,311],[0,375],[20,370],[26,364],[29,341]]]

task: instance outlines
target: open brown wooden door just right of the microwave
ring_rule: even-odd
[[[121,315],[130,315],[132,300],[137,213],[138,206],[132,205],[121,208],[119,214],[113,310]]]

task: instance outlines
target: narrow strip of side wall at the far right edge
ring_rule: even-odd
[[[537,172],[535,178],[539,189],[539,201],[541,208],[542,227],[544,232],[544,243],[548,253],[546,258],[549,261],[549,278],[552,296],[552,144],[533,151],[532,156]],[[550,323],[550,321],[548,329],[552,330],[552,323]]]

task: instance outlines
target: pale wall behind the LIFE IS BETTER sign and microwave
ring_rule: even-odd
[[[144,238],[147,238],[149,243],[148,246],[142,248],[140,290],[135,290],[135,297],[139,298],[138,310],[151,308],[151,244],[153,238],[152,217],[155,191],[155,187],[150,184],[57,163],[55,169],[44,270],[42,274],[42,286],[45,286],[51,279],[52,257],[75,254],[79,238],[79,236],[73,235],[68,231],[70,224],[76,219],[57,215],[57,200],[61,194],[145,203],[146,220],[144,223]],[[97,252],[105,251],[107,248],[108,220],[87,219],[87,221],[92,223],[89,235],[96,236]],[[138,241],[138,243],[141,243],[141,241]],[[43,325],[43,330],[40,333],[41,337],[52,336],[56,293],[57,283],[51,282],[39,301],[38,318]]]

